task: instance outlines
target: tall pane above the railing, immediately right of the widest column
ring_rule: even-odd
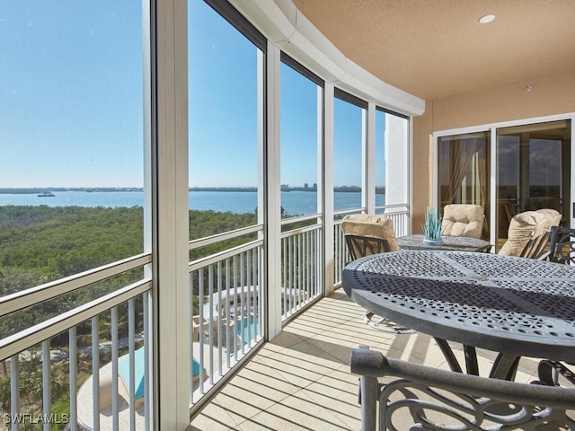
[[[190,1],[188,9],[190,239],[196,239],[256,224],[261,51],[203,1]],[[208,211],[230,214],[208,217]]]

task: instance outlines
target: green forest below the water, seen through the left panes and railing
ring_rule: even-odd
[[[201,238],[256,223],[255,212],[236,215],[190,211],[189,238]],[[190,259],[197,259],[250,239],[252,238],[246,235],[191,251]],[[0,207],[0,296],[137,255],[144,251],[143,243],[142,207]],[[0,339],[127,286],[141,277],[142,269],[130,271],[29,309],[0,316]],[[126,307],[126,304],[119,306],[120,337],[128,330]],[[141,300],[137,310],[141,310]],[[110,314],[101,315],[100,338],[110,339],[110,330]],[[89,345],[90,334],[90,322],[80,325],[77,328],[78,345]],[[66,349],[67,333],[51,339],[50,343],[51,347]],[[32,348],[31,359],[22,361],[20,365],[22,403],[29,409],[40,409],[37,404],[38,400],[41,400],[42,381],[38,348]],[[109,360],[109,357],[101,357],[102,364]],[[80,382],[91,373],[90,363],[89,357],[79,357]],[[57,413],[69,412],[66,369],[67,365],[63,363],[51,365],[54,397],[52,410]],[[0,411],[10,411],[9,409],[10,377],[4,361],[0,366]]]

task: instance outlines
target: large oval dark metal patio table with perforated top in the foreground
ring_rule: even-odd
[[[498,352],[491,377],[512,379],[520,356],[575,361],[575,267],[465,251],[397,251],[349,262],[346,294],[367,310],[433,336],[452,370],[447,340]]]

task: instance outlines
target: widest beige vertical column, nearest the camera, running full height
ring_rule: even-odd
[[[154,428],[190,427],[187,3],[152,2]],[[154,25],[155,24],[155,25]]]

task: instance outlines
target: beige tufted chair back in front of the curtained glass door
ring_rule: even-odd
[[[471,204],[449,204],[443,208],[441,233],[444,235],[481,238],[483,232],[483,207]]]

